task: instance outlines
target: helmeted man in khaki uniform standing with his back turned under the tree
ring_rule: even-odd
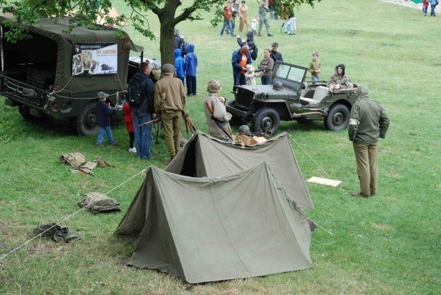
[[[164,129],[165,143],[170,159],[164,164],[168,165],[179,152],[181,145],[182,112],[186,106],[185,89],[179,78],[174,78],[174,66],[162,66],[164,78],[155,84],[155,113],[160,114],[162,128]]]

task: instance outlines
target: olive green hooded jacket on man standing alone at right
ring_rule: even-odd
[[[349,120],[349,140],[356,143],[377,143],[379,138],[386,137],[389,117],[384,108],[369,98],[369,90],[365,85],[358,85],[353,93],[356,102],[351,109]]]

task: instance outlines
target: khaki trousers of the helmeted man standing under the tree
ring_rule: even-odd
[[[181,127],[182,127],[182,111],[181,110],[162,110],[161,123],[164,130],[165,144],[170,157],[176,156],[181,148]]]

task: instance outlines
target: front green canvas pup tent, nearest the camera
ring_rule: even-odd
[[[134,243],[127,264],[190,283],[312,266],[309,220],[265,162],[210,178],[152,166],[116,235]]]

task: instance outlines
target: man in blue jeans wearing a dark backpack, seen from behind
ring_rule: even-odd
[[[141,62],[139,72],[135,73],[129,81],[127,92],[129,104],[132,107],[134,140],[137,156],[141,159],[151,159],[153,143],[152,125],[139,126],[156,118],[154,101],[154,85],[150,78],[152,71],[150,62]]]

